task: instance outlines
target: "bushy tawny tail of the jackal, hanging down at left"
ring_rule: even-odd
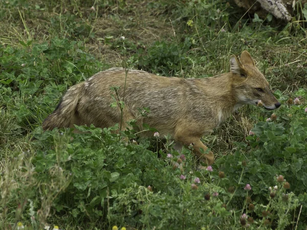
[[[42,129],[52,130],[55,127],[70,127],[78,101],[81,95],[83,83],[72,86],[61,99],[55,110],[43,121]]]

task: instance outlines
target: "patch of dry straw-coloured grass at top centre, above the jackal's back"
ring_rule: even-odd
[[[146,49],[155,41],[170,40],[173,36],[169,18],[159,9],[148,9],[148,3],[127,1],[128,10],[117,8],[101,13],[94,24],[95,38],[87,43],[87,48],[95,56],[112,64],[119,64],[122,55],[112,43],[124,36],[136,47]],[[110,38],[109,42],[105,39]]]

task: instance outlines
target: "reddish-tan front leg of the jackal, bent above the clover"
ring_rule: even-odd
[[[212,165],[214,161],[214,155],[213,152],[209,151],[208,154],[201,153],[200,148],[204,149],[206,151],[208,149],[207,146],[205,146],[199,137],[191,137],[191,136],[177,136],[176,138],[178,141],[180,141],[182,144],[188,146],[190,144],[194,144],[194,154],[199,157],[203,162],[207,163],[208,165]]]

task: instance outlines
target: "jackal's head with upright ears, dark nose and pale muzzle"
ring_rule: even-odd
[[[240,60],[230,57],[232,86],[238,104],[257,105],[261,100],[266,109],[276,109],[280,102],[272,94],[269,82],[255,65],[247,51],[243,51]]]

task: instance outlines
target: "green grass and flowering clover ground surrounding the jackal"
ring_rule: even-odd
[[[1,228],[307,229],[306,9],[296,4],[287,24],[222,0],[1,1]],[[126,62],[204,78],[244,50],[282,106],[276,119],[246,106],[205,136],[212,172],[197,171],[188,148],[174,167],[168,139],[130,133],[138,145],[125,145],[116,127],[41,133],[67,88],[98,71]]]

